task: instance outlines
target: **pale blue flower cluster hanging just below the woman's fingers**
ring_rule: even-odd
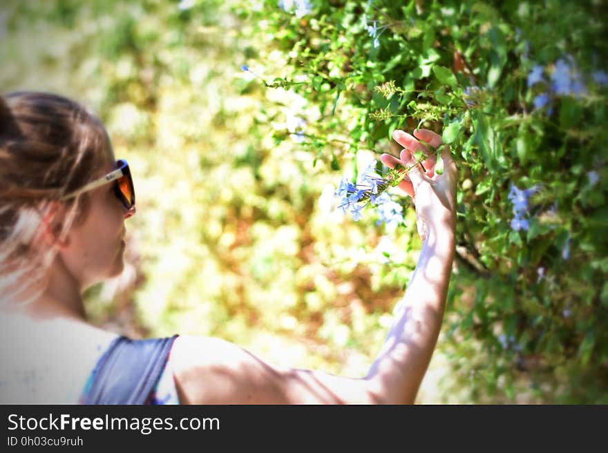
[[[378,224],[385,222],[390,229],[395,229],[403,222],[403,206],[392,201],[386,189],[397,186],[406,176],[406,170],[389,169],[386,177],[379,177],[375,173],[376,165],[376,160],[368,164],[359,184],[352,184],[343,178],[334,195],[339,197],[338,207],[343,213],[350,211],[354,220],[361,220],[361,210],[372,204],[377,206]]]

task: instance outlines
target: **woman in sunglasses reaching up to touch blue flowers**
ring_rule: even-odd
[[[399,158],[441,137],[395,131]],[[419,139],[419,140],[418,140]],[[395,322],[368,374],[282,369],[217,338],[129,340],[88,324],[83,291],[121,273],[129,166],[99,120],[46,93],[0,98],[0,403],[413,403],[433,354],[453,260],[456,168],[434,158],[399,185],[423,246]]]

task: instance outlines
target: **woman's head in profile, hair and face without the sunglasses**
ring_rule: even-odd
[[[2,302],[35,298],[57,257],[84,286],[122,270],[113,248],[129,214],[112,184],[65,198],[114,168],[104,126],[79,104],[47,93],[0,97]]]

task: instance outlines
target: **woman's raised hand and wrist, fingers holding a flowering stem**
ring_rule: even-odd
[[[418,234],[424,241],[430,234],[453,233],[456,224],[456,179],[457,169],[450,154],[450,147],[445,145],[441,151],[441,160],[444,162],[444,171],[441,175],[435,173],[437,157],[435,153],[428,155],[428,146],[419,142],[426,142],[433,148],[441,146],[441,136],[427,129],[417,129],[414,136],[403,132],[392,133],[393,139],[403,149],[397,157],[390,154],[380,156],[381,162],[389,168],[400,165],[410,168],[408,179],[399,184],[399,188],[408,193],[416,206],[416,224]],[[421,164],[417,163],[414,153],[424,153]]]

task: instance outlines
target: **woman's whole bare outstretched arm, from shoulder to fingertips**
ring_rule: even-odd
[[[420,130],[414,135],[437,147],[441,137]],[[382,162],[406,168],[412,153],[426,150],[412,135],[395,131],[404,146],[397,157]],[[217,338],[179,337],[170,366],[182,403],[413,403],[433,355],[444,313],[455,229],[456,167],[446,146],[441,154],[444,173],[433,172],[435,157],[408,173],[401,189],[412,195],[423,246],[395,322],[365,378],[343,378],[324,372],[283,369],[266,363],[232,343]]]

